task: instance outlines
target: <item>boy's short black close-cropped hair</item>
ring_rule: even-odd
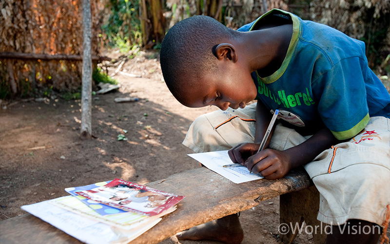
[[[181,103],[180,87],[198,85],[205,72],[216,68],[215,47],[223,40],[235,37],[235,31],[217,20],[196,15],[177,22],[165,35],[160,50],[160,65],[165,83]],[[190,81],[180,81],[182,77]]]

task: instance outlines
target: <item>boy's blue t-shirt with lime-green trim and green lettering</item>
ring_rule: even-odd
[[[252,73],[257,99],[270,111],[279,109],[282,119],[303,134],[325,125],[338,140],[358,134],[370,116],[390,118],[390,95],[368,66],[364,42],[278,9],[238,31],[275,18],[292,23],[287,55],[272,75]]]

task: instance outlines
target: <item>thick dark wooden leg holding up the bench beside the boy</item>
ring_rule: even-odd
[[[319,192],[315,186],[280,195],[280,239],[284,244],[291,244],[298,234],[298,227],[301,228],[303,221],[310,228],[308,232],[313,234],[314,244],[326,243],[326,224],[317,220],[319,207]],[[282,229],[282,226],[288,226],[289,231]],[[297,226],[296,231],[292,227]],[[318,227],[315,229],[315,227]],[[322,229],[321,229],[322,228]],[[305,228],[302,229],[305,231]]]

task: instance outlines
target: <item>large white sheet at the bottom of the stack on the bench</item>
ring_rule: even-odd
[[[87,244],[129,243],[161,220],[159,218],[143,228],[126,231],[66,211],[49,201],[24,205],[21,209]]]

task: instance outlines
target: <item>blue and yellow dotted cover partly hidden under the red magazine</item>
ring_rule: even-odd
[[[82,203],[88,205],[90,208],[94,209],[96,212],[98,212],[101,215],[110,215],[110,214],[118,214],[118,213],[125,213],[126,211],[116,208],[116,207],[110,207],[92,200],[89,200],[88,198],[81,197],[80,195],[76,194],[76,191],[85,191],[85,190],[91,190],[94,188],[97,188],[99,186],[106,185],[107,183],[110,183],[111,181],[107,182],[98,182],[95,184],[89,184],[84,186],[77,186],[77,187],[68,187],[65,188],[65,191],[71,194],[72,196],[75,196],[78,198],[79,201]]]

